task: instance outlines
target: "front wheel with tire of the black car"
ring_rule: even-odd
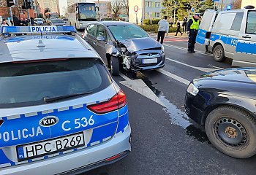
[[[214,109],[205,123],[211,144],[233,158],[249,158],[256,153],[256,120],[233,106]]]

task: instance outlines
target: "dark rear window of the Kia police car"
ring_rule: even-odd
[[[102,61],[94,58],[2,63],[0,108],[45,104],[45,97],[97,93],[110,84]]]

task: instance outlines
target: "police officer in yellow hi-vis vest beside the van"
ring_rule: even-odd
[[[189,33],[189,42],[188,42],[188,53],[195,52],[195,39],[197,37],[197,31],[199,28],[199,14],[195,13],[195,15],[189,19],[187,23],[187,33]]]

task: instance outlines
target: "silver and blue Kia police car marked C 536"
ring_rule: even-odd
[[[2,33],[0,174],[79,174],[130,152],[126,95],[75,28]]]

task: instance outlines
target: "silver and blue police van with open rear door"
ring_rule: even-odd
[[[207,9],[196,42],[208,45],[215,61],[231,58],[233,66],[256,66],[256,9]]]

